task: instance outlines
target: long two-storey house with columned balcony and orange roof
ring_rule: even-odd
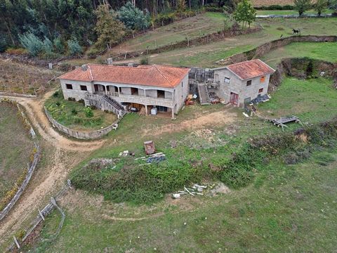
[[[84,100],[85,105],[95,105],[119,116],[126,113],[126,108],[143,110],[148,115],[155,107],[159,112],[171,113],[174,118],[189,92],[189,71],[162,65],[88,64],[58,79],[65,99]]]

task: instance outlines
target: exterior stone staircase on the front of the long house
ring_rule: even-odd
[[[86,94],[84,103],[86,106],[94,105],[96,108],[100,108],[100,110],[114,112],[119,118],[126,115],[123,105],[107,95]]]

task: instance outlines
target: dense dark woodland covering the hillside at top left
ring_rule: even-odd
[[[233,6],[234,1],[0,0],[0,51],[31,44],[35,48],[33,55],[42,51],[41,48],[50,56],[51,51],[62,54],[72,46],[73,53],[79,53],[77,44],[91,46],[100,33],[107,32],[104,28],[108,26],[103,22],[114,23],[115,28],[119,25],[121,33],[117,32],[119,36],[114,38],[115,41],[110,41],[113,44],[121,35],[142,31],[152,25],[165,25],[174,19],[193,15],[193,10],[198,10],[205,4]],[[98,47],[110,46],[105,42],[107,41],[100,41]]]

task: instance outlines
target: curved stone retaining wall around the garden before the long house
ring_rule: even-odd
[[[77,131],[68,128],[67,126],[63,126],[62,124],[58,123],[51,115],[49,114],[47,108],[44,108],[44,112],[46,112],[46,116],[49,119],[49,122],[53,125],[53,127],[57,128],[62,133],[67,134],[68,136],[72,136],[74,138],[84,139],[84,140],[94,140],[97,138],[102,138],[103,136],[107,135],[114,129],[114,124],[117,124],[120,119],[117,119],[116,122],[112,123],[110,126],[105,127],[104,129],[95,130],[95,131]]]

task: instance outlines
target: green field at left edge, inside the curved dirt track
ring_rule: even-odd
[[[27,169],[34,143],[16,105],[0,103],[0,200]]]

